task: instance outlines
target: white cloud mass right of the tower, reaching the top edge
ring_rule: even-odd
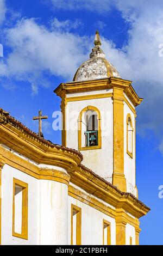
[[[51,0],[55,5],[58,1]],[[59,1],[58,8],[87,9],[95,12],[110,10],[114,4],[121,11],[123,19],[130,22],[129,40],[122,49],[106,38],[102,48],[121,76],[133,80],[134,88],[144,101],[139,109],[139,132],[151,129],[162,138],[163,133],[163,57],[159,57],[159,45],[163,43],[163,2],[161,0],[106,0],[97,8],[99,1]],[[100,4],[99,4],[100,5]],[[108,7],[106,7],[108,5]],[[163,154],[163,140],[160,150]]]

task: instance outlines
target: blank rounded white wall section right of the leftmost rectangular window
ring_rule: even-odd
[[[40,198],[40,244],[67,245],[67,185],[40,180]]]

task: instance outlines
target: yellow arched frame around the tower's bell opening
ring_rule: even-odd
[[[82,116],[83,113],[87,110],[93,110],[97,113],[97,120],[98,120],[98,145],[93,147],[82,147]],[[101,114],[97,107],[94,106],[87,106],[80,111],[79,117],[78,117],[78,150],[90,150],[90,149],[101,149]]]

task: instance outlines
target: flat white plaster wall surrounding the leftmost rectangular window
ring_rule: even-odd
[[[12,236],[13,178],[28,183],[28,240]],[[2,245],[37,245],[39,180],[13,167],[2,169]]]

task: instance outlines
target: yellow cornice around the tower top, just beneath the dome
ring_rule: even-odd
[[[114,87],[122,88],[135,107],[143,100],[136,94],[134,88],[131,86],[131,81],[115,77],[90,81],[61,83],[54,90],[54,93],[62,98],[65,94],[69,93],[93,92],[96,90],[111,89]]]

